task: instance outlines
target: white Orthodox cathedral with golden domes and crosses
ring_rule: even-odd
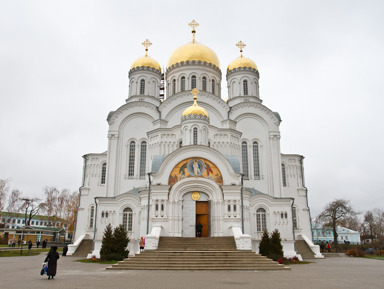
[[[258,252],[265,229],[278,229],[285,256],[311,242],[303,156],[280,151],[280,116],[262,104],[259,71],[240,56],[226,71],[228,99],[213,50],[195,41],[177,48],[165,73],[148,56],[133,62],[126,102],[109,113],[108,150],[84,156],[75,251],[93,240],[99,256],[108,224],[123,224],[130,254],[155,250],[161,236],[233,236]],[[196,229],[201,224],[201,232]],[[316,255],[316,254],[315,254]]]

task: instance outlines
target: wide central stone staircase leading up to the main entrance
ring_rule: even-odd
[[[238,251],[233,237],[161,237],[158,250],[144,251],[107,270],[286,270],[251,251]]]

